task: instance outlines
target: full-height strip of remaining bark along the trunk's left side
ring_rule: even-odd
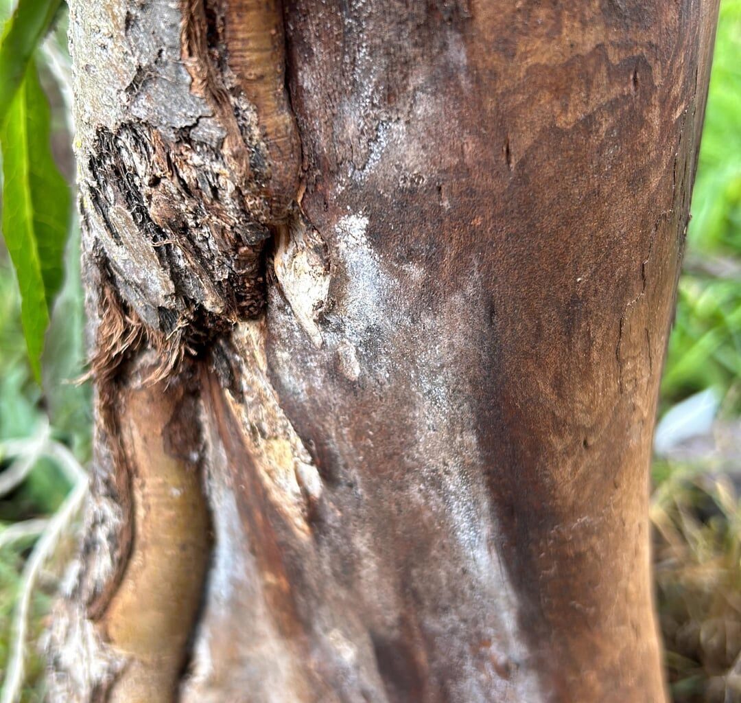
[[[76,106],[76,149],[96,458],[84,554],[50,638],[50,699],[169,702],[210,552],[194,359],[261,313],[263,248],[298,191],[282,11],[183,0],[71,12],[76,90],[92,98]],[[286,441],[259,445],[267,466],[296,456]]]

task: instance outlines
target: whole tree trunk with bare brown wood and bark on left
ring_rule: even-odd
[[[70,13],[96,458],[51,698],[664,700],[717,1]]]

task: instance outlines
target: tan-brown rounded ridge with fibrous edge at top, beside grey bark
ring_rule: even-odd
[[[193,88],[227,131],[225,151],[244,179],[256,179],[265,220],[288,216],[299,190],[301,146],[285,88],[285,38],[276,0],[184,0],[182,53]],[[256,110],[259,169],[250,169],[239,99]],[[254,171],[254,172],[253,172]]]

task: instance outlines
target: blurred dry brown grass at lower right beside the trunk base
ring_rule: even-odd
[[[740,485],[672,466],[654,492],[659,619],[675,703],[741,702]]]

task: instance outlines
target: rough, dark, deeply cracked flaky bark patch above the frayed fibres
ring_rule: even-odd
[[[144,240],[142,276],[119,282],[123,296],[149,326],[186,342],[254,317],[264,303],[270,231],[227,172],[216,148],[134,123],[99,130],[90,159],[90,199],[107,232],[119,242]]]

